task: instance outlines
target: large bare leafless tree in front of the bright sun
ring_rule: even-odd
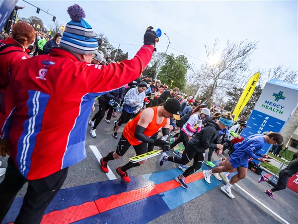
[[[211,97],[220,97],[223,90],[227,90],[243,79],[243,73],[248,70],[250,55],[257,47],[257,42],[241,41],[239,43],[226,43],[222,52],[218,50],[218,40],[212,48],[205,45],[207,59],[214,55],[219,55],[218,63],[214,65],[202,64],[199,70],[192,68],[192,76],[189,81],[195,86],[203,83],[202,91],[199,93],[200,99],[208,100]],[[206,80],[204,80],[207,74]],[[216,96],[218,95],[218,96]]]

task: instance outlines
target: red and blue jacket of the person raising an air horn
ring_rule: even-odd
[[[94,98],[138,78],[152,53],[153,47],[144,45],[131,60],[101,66],[53,48],[49,55],[13,66],[0,135],[9,138],[10,155],[20,173],[36,180],[84,159]]]

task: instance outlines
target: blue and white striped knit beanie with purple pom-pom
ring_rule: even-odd
[[[78,4],[74,4],[68,7],[67,12],[72,20],[66,24],[60,48],[82,55],[97,53],[97,38],[92,27],[83,19],[84,10]]]

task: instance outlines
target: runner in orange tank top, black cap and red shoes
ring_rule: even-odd
[[[181,106],[178,100],[169,99],[164,105],[158,107],[147,108],[142,111],[135,119],[129,121],[123,129],[123,133],[117,145],[116,151],[110,152],[107,156],[101,158],[100,168],[104,173],[109,172],[108,161],[114,159],[120,159],[127,152],[132,145],[136,151],[136,155],[144,154],[151,151],[152,145],[162,146],[163,151],[169,150],[169,144],[160,138],[152,139],[150,136],[154,136],[156,132],[162,129],[162,135],[169,136],[169,117],[180,119]],[[149,145],[148,145],[149,144]],[[147,160],[143,160],[139,163],[128,162],[124,166],[119,166],[116,172],[119,176],[129,183],[131,180],[127,175],[127,170],[136,166],[140,166]]]

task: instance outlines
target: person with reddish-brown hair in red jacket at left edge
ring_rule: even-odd
[[[12,27],[11,37],[0,42],[0,105],[9,83],[9,71],[15,63],[29,58],[28,47],[35,39],[34,28],[23,21]]]

